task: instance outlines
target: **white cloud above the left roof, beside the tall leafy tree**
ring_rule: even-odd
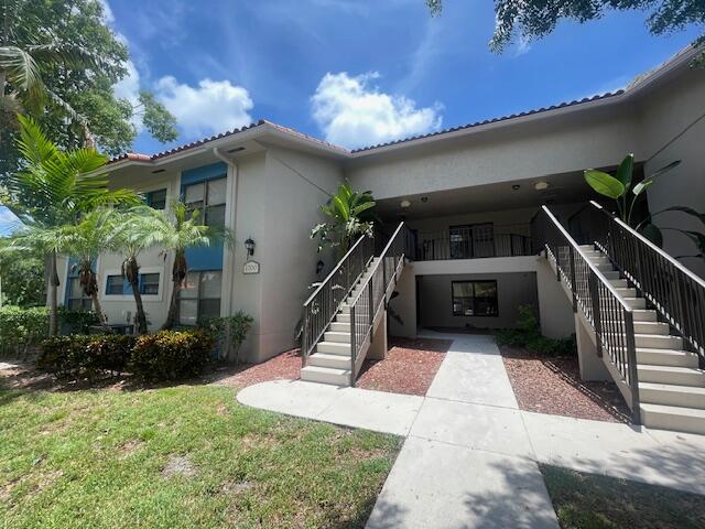
[[[156,98],[172,112],[188,137],[208,136],[252,122],[253,104],[246,88],[229,80],[200,79],[197,87],[172,76],[155,85]]]

